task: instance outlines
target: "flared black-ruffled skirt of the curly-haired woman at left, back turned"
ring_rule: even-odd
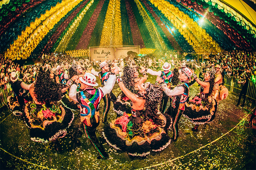
[[[72,123],[74,114],[71,110],[55,104],[47,108],[45,104],[28,102],[23,117],[30,128],[31,140],[47,143],[66,135],[66,129]]]

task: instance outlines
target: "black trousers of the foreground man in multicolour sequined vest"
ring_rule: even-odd
[[[91,141],[92,145],[96,149],[96,151],[99,153],[100,157],[105,158],[108,157],[108,154],[105,152],[103,146],[99,143],[97,136],[96,136],[96,128],[99,126],[100,122],[98,123],[92,123],[92,126],[87,126],[84,124],[84,131]]]

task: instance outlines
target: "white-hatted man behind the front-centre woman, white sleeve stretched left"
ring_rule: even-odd
[[[141,72],[146,71],[147,73],[151,74],[151,75],[157,75],[159,77],[161,77],[161,79],[163,80],[164,83],[168,84],[171,83],[172,81],[172,77],[173,77],[173,72],[170,70],[172,68],[172,65],[169,64],[168,62],[165,62],[164,65],[162,66],[162,69],[164,71],[153,71],[150,68],[149,69],[145,69],[142,67]],[[168,84],[168,87],[170,87],[171,85]],[[160,111],[162,111],[162,113],[164,113],[164,111],[166,110],[166,106],[167,103],[169,101],[169,96],[165,95],[163,96],[163,101],[162,101],[162,105],[160,107]]]

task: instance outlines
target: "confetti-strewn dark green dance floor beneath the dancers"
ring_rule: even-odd
[[[153,79],[149,76],[150,81]],[[113,92],[116,96],[118,90],[115,85]],[[190,96],[197,92],[197,84],[190,87]],[[0,169],[256,169],[255,123],[253,128],[244,126],[255,104],[247,100],[241,108],[235,105],[237,100],[237,96],[229,94],[219,103],[213,123],[200,125],[198,132],[191,131],[194,124],[181,116],[178,141],[163,151],[152,151],[146,157],[133,157],[109,146],[100,124],[97,136],[109,154],[106,160],[96,159],[98,153],[85,136],[78,113],[64,138],[43,144],[33,142],[24,120],[3,107],[0,108]],[[112,108],[113,103],[108,122],[116,118]],[[172,130],[168,134],[172,136]]]

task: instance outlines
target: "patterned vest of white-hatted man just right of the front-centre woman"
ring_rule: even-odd
[[[179,82],[177,87],[180,87],[180,86],[183,86],[185,88],[185,91],[181,95],[170,96],[170,98],[171,98],[171,106],[172,106],[173,109],[185,110],[185,102],[187,101],[188,94],[189,94],[189,84],[188,84],[188,81]]]

